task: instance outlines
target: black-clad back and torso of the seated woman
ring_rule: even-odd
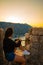
[[[3,49],[5,53],[14,52],[15,42],[9,38],[4,38]]]

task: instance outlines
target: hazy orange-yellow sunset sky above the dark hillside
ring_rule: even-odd
[[[43,27],[43,0],[0,0],[0,21]]]

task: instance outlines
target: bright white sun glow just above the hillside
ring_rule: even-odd
[[[23,21],[22,17],[19,16],[8,16],[6,17],[6,22],[12,22],[12,23],[21,23]]]

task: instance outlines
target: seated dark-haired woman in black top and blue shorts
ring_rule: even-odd
[[[16,44],[13,40],[12,40],[12,34],[13,34],[13,30],[12,28],[8,28],[5,32],[5,38],[3,40],[3,49],[4,49],[4,53],[5,53],[5,57],[8,61],[13,61],[14,62],[19,62],[21,63],[21,65],[25,65],[25,59],[23,56],[18,56],[15,55],[15,49],[17,47],[19,47],[19,44]]]

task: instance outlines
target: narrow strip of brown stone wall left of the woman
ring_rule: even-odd
[[[3,38],[4,38],[4,30],[0,28],[0,65],[3,64]]]

